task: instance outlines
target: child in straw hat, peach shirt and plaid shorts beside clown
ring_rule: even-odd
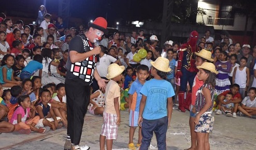
[[[124,66],[113,63],[108,66],[106,78],[110,79],[105,92],[105,109],[103,112],[104,123],[101,135],[99,136],[99,146],[105,149],[112,149],[113,140],[117,139],[118,126],[120,125],[120,87],[117,81],[122,79]]]

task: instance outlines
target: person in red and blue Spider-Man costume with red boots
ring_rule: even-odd
[[[185,112],[189,110],[191,103],[191,93],[187,94],[188,101],[184,100],[184,93],[187,89],[187,83],[192,89],[193,81],[197,72],[195,67],[195,52],[199,52],[200,48],[196,46],[198,40],[198,33],[192,31],[187,43],[182,44],[179,49],[178,54],[178,66],[177,72],[175,74],[176,79],[180,78],[180,91],[178,93],[179,97],[179,110]]]

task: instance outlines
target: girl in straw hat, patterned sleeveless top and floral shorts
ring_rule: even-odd
[[[197,149],[210,149],[209,133],[214,125],[214,116],[212,108],[214,107],[214,87],[216,84],[215,65],[212,63],[203,63],[196,67],[198,79],[204,81],[204,84],[197,90],[195,100],[195,132],[197,136]]]

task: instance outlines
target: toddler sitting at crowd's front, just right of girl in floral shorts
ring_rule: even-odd
[[[230,101],[230,103],[222,104],[221,110],[225,112],[227,117],[232,117],[232,113],[234,112],[234,103],[231,102],[233,100],[233,93],[229,92],[226,94],[224,102]]]

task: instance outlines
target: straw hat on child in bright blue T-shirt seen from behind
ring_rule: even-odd
[[[150,63],[155,69],[163,72],[170,72],[170,70],[172,70],[169,68],[169,60],[164,57],[158,57],[154,62]]]

